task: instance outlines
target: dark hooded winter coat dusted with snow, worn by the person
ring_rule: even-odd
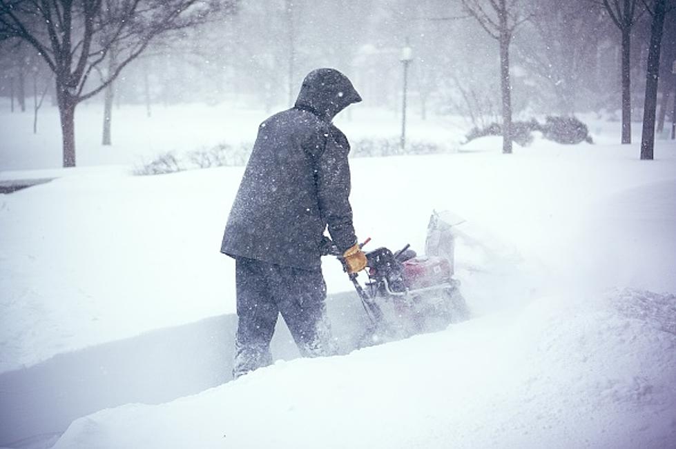
[[[296,105],[260,124],[221,252],[316,270],[327,226],[341,252],[356,243],[348,199],[349,143],[331,120],[358,101],[344,74],[313,70]]]

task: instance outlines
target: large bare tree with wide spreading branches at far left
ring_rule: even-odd
[[[103,6],[102,0],[0,0],[0,39],[30,43],[55,74],[64,167],[75,166],[76,106],[110,85],[153,39],[203,23],[218,3],[117,0],[106,19]],[[113,47],[117,67],[94,80]]]

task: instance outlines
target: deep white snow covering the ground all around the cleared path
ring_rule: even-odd
[[[104,148],[89,105],[77,145],[90,167],[15,171],[58,166],[48,111],[37,137],[26,117],[0,115],[0,180],[59,176],[0,196],[0,373],[232,314],[233,263],[218,250],[242,168],[131,168],[166,150],[253,141],[264,112],[190,106],[147,119],[122,108]],[[398,130],[392,112],[366,108],[339,124],[351,139]],[[412,139],[458,152],[351,161],[356,229],[372,248],[423,248],[433,209],[466,219],[457,277],[476,319],[104,410],[57,447],[669,447],[676,145],[658,141],[656,160],[639,161],[636,144],[613,143],[619,123],[589,124],[595,145],[536,139],[505,156],[499,139],[460,147],[447,120],[413,117]],[[329,293],[350,290],[336,262],[324,267]]]

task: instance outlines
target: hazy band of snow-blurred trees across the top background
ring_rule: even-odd
[[[648,10],[654,3],[2,0],[0,96],[10,99],[16,113],[30,112],[34,74],[38,100],[50,83],[45,101],[64,110],[64,164],[72,165],[75,142],[69,137],[68,116],[81,101],[105,108],[102,141],[110,143],[116,105],[144,105],[148,115],[157,106],[195,101],[272,112],[289,106],[309,70],[331,66],[354,80],[365,104],[394,116],[400,109],[403,72],[398,57],[408,38],[415,58],[409,73],[412,114],[459,115],[468,127],[504,123],[505,152],[512,141],[512,116],[594,111],[622,119],[618,140],[629,141],[630,120],[641,119],[646,104],[653,19]],[[46,9],[49,5],[53,8]],[[95,14],[84,5],[95,7]],[[66,6],[73,11],[69,39],[65,28],[58,28]],[[30,14],[30,8],[37,8],[37,14]],[[159,8],[154,20],[164,17],[161,32],[144,8]],[[169,10],[180,14],[162,16]],[[673,114],[676,97],[670,74],[676,57],[673,0],[665,1],[665,10],[658,129],[662,117]],[[56,41],[45,14],[57,14],[51,32]],[[131,20],[121,21],[124,14]],[[89,40],[88,20],[95,31]],[[85,41],[90,48],[82,59]],[[66,47],[72,55],[59,65]]]

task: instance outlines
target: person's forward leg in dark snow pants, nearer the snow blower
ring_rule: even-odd
[[[334,355],[336,343],[326,312],[326,283],[321,270],[273,266],[271,295],[303,357]]]

